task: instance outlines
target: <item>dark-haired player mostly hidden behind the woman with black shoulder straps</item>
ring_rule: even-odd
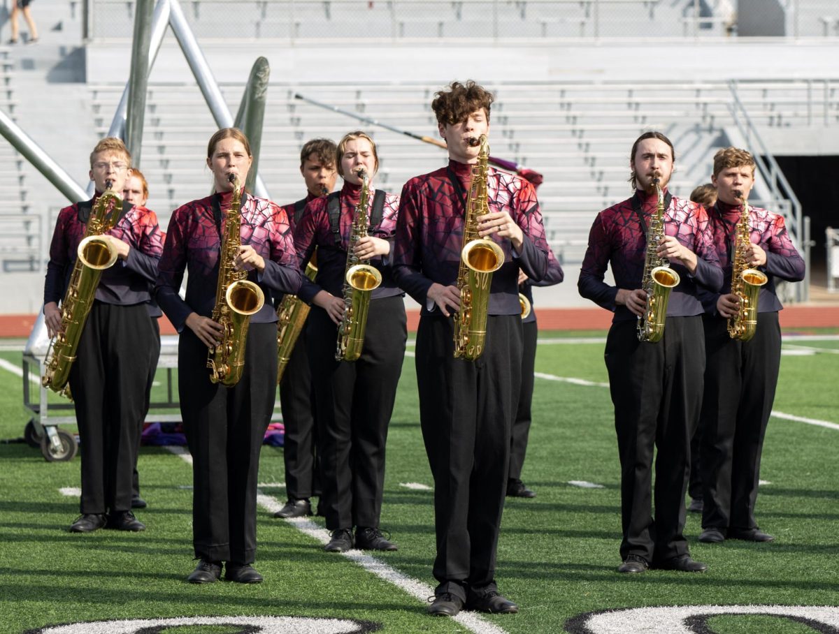
[[[306,205],[335,188],[335,142],[311,139],[300,150],[300,174],[306,185],[305,198],[284,205],[291,230],[300,223]],[[276,304],[282,297],[276,298]],[[310,497],[320,495],[320,455],[316,451],[317,423],[315,393],[306,353],[306,327],[300,332],[279,382],[279,403],[283,410],[285,441],[285,491],[288,501],[274,513],[276,518],[300,518],[312,513]]]

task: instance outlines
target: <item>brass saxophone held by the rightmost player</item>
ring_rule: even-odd
[[[743,201],[743,214],[737,221],[734,232],[734,261],[732,262],[732,293],[740,298],[737,315],[728,318],[728,336],[740,341],[748,341],[754,337],[758,327],[758,296],[760,287],[769,278],[749,267],[746,262],[746,250],[752,245],[748,230],[748,203],[743,192],[735,191],[734,195]]]

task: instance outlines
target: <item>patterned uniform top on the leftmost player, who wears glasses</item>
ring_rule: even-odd
[[[61,209],[55,222],[50,262],[44,281],[44,304],[64,299],[70,275],[76,265],[79,243],[85,236],[87,219],[96,197]],[[128,243],[128,258],[102,271],[96,300],[106,304],[131,306],[149,302],[151,285],[157,278],[157,266],[163,251],[164,234],[160,231],[157,215],[145,207],[123,204],[124,215],[107,234]]]

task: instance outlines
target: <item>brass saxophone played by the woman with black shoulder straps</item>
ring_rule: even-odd
[[[378,272],[378,269],[375,266],[361,264],[361,260],[353,253],[358,240],[367,235],[367,200],[370,196],[367,171],[360,169],[357,174],[362,179],[362,192],[358,198],[355,214],[352,216],[352,233],[349,246],[347,246],[347,266],[344,269],[344,317],[338,327],[336,361],[355,361],[362,355],[370,294],[382,283],[382,274]]]

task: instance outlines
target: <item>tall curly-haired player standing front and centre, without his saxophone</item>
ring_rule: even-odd
[[[472,168],[489,135],[492,93],[473,81],[453,82],[435,94],[434,110],[449,162],[411,178],[393,255],[399,286],[420,303],[416,373],[420,424],[435,491],[438,581],[432,616],[468,610],[512,613],[498,592],[495,560],[507,490],[510,428],[522,370],[519,268],[534,281],[548,269],[548,245],[533,186],[487,168],[488,214],[477,216],[477,235],[500,247],[503,263],[492,274],[480,358],[455,358],[453,313],[466,233]],[[483,167],[483,166],[482,166]],[[482,169],[481,169],[482,171]]]

